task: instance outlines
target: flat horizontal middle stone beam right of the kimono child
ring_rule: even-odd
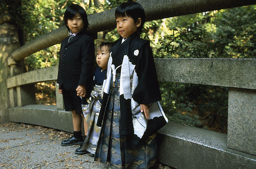
[[[155,59],[159,81],[256,89],[256,59]]]

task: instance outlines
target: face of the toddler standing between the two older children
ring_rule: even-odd
[[[108,66],[108,59],[109,59],[109,49],[108,46],[102,46],[102,48],[98,49],[96,62],[102,70],[105,70]]]

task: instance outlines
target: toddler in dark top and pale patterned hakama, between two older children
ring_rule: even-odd
[[[101,130],[101,127],[96,125],[99,110],[101,108],[101,90],[103,80],[106,76],[109,51],[112,46],[113,43],[111,42],[103,42],[97,49],[96,62],[98,66],[94,71],[93,90],[91,92],[91,97],[87,100],[89,104],[82,104],[82,111],[89,126],[85,141],[75,150],[75,153],[79,155],[89,153],[89,156],[94,156],[95,154]]]

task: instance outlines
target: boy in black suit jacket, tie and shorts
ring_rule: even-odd
[[[90,89],[92,67],[94,64],[94,40],[86,35],[88,19],[86,11],[77,4],[70,5],[65,13],[64,20],[70,36],[63,39],[60,48],[59,71],[57,83],[59,93],[63,94],[66,111],[72,112],[74,133],[68,140],[62,140],[62,146],[82,144],[81,131],[82,106],[81,97],[87,96],[86,90]],[[88,91],[88,96],[90,91]],[[85,136],[88,124],[84,119]]]

